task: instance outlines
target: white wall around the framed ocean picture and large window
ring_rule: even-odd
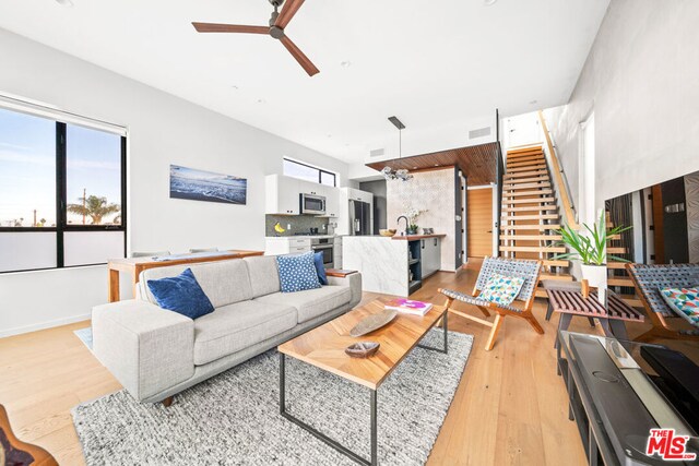
[[[263,249],[264,176],[283,156],[346,183],[343,162],[3,29],[0,57],[0,93],[128,127],[131,250]],[[170,200],[169,164],[246,177],[248,204]],[[104,266],[0,275],[0,336],[84,319],[106,284]]]

